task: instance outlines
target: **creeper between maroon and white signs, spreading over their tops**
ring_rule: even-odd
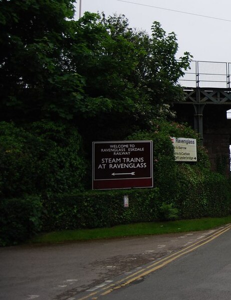
[[[180,188],[177,180],[177,162],[174,160],[174,149],[170,136],[196,138],[196,134],[190,127],[166,120],[155,120],[152,130],[139,131],[129,136],[129,139],[153,140],[154,186],[159,188],[162,202],[168,204],[175,201]],[[201,154],[198,163],[204,152],[201,147],[199,151]],[[206,153],[205,156],[207,157]],[[190,163],[194,164],[194,162]]]

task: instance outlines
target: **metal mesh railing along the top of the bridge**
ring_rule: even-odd
[[[178,79],[185,87],[230,88],[231,62],[198,61],[190,62],[190,69]]]

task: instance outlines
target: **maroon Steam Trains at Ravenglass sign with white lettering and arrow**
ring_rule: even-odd
[[[93,142],[92,188],[153,187],[152,140]]]

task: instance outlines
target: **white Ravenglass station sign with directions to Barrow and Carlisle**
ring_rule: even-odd
[[[196,139],[171,136],[176,161],[197,161]]]

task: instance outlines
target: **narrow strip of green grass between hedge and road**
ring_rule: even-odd
[[[227,223],[231,223],[231,215],[225,217],[206,217],[167,222],[135,223],[127,225],[117,225],[108,228],[62,230],[39,234],[28,242],[60,243],[75,240],[199,231],[211,229]]]

